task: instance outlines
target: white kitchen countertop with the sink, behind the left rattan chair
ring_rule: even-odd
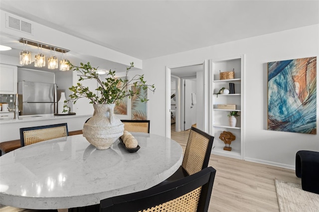
[[[39,120],[52,120],[52,119],[64,119],[72,117],[85,117],[87,115],[54,115],[54,114],[37,114],[37,115],[20,115],[19,119],[0,119],[0,124],[4,123],[18,123],[18,122],[29,122]]]

